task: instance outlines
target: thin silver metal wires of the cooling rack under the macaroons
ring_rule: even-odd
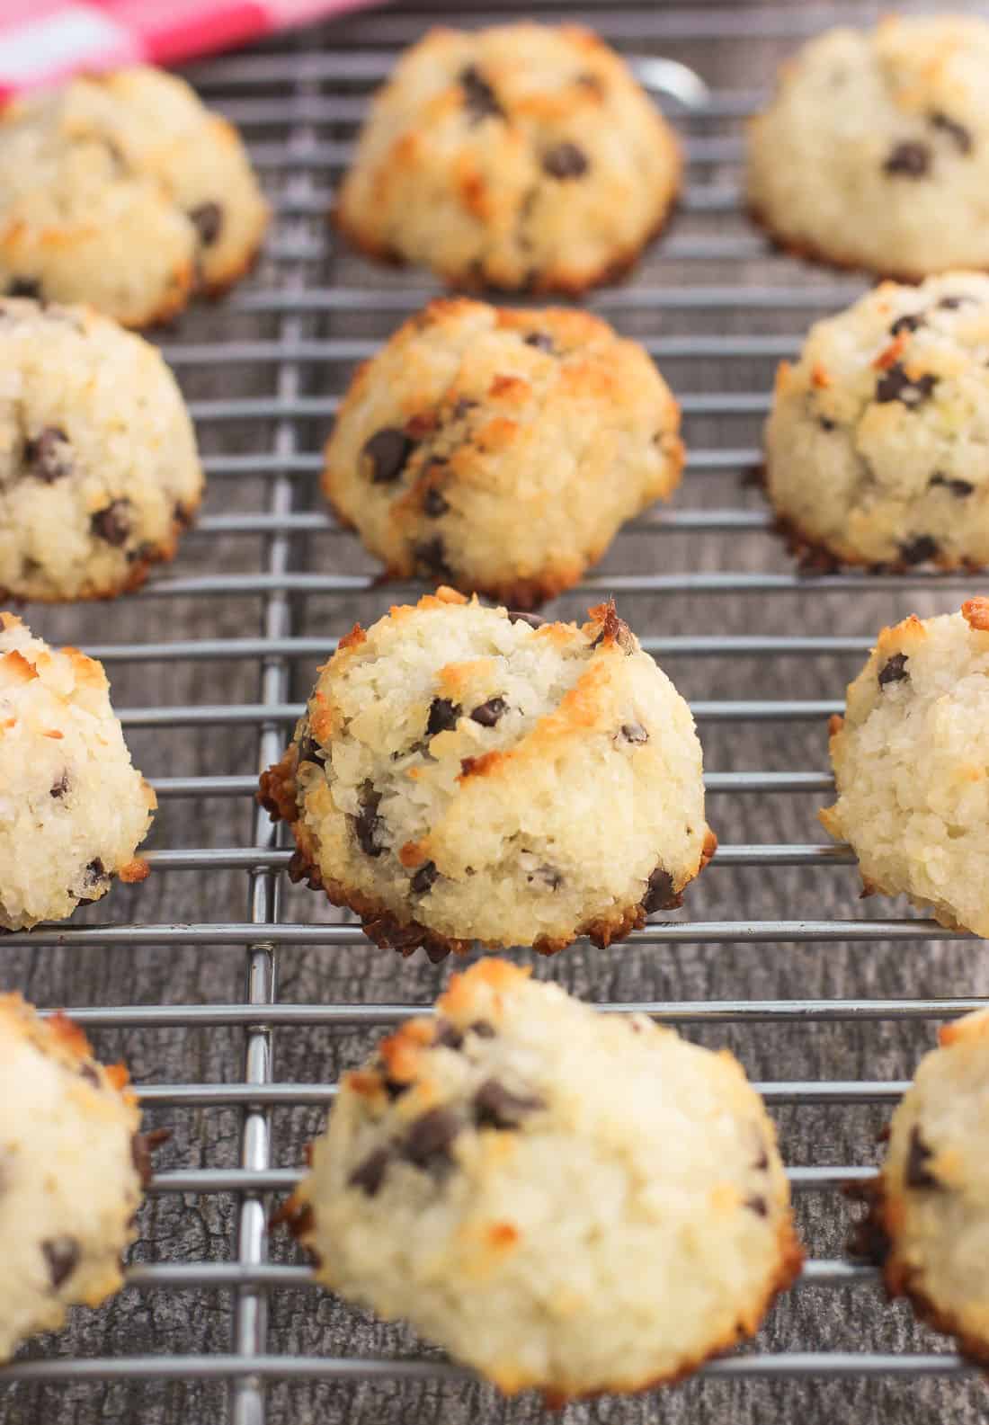
[[[556,4],[557,0],[547,0]],[[470,23],[487,17],[472,13]],[[594,16],[589,14],[593,23]],[[294,567],[292,542],[299,536],[336,537],[341,529],[323,510],[299,510],[295,492],[299,479],[309,479],[321,469],[318,449],[304,449],[299,422],[312,422],[326,430],[338,406],[336,396],[308,393],[308,378],[316,369],[343,368],[361,361],[376,348],[372,338],[331,338],[314,335],[314,319],[335,314],[373,314],[385,326],[393,325],[416,311],[436,289],[425,279],[412,279],[400,289],[378,291],[373,298],[361,286],[311,288],[306,285],[309,262],[328,256],[331,237],[322,224],[329,202],[326,187],[352,151],[351,141],[339,141],[338,125],[353,125],[366,111],[366,93],[372,81],[380,80],[392,67],[393,46],[413,37],[420,19],[379,14],[359,21],[362,43],[385,43],[392,48],[359,48],[346,53],[305,53],[288,46],[271,54],[235,56],[211,61],[197,71],[204,93],[222,90],[222,107],[249,130],[264,125],[276,131],[275,140],[252,142],[255,162],[265,174],[284,184],[276,197],[278,229],[268,247],[268,258],[281,264],[278,279],[266,288],[245,288],[228,298],[231,314],[274,316],[276,335],[265,339],[224,339],[219,342],[167,342],[164,353],[180,370],[241,368],[271,370],[272,393],[268,396],[197,400],[192,415],[201,429],[218,432],[232,428],[261,430],[261,443],[249,453],[218,453],[205,460],[211,480],[251,476],[271,482],[265,507],[258,513],[209,514],[192,534],[194,540],[218,537],[264,540],[262,559],[255,573],[197,574],[161,577],[152,581],[143,597],[211,597],[244,596],[261,601],[259,631],[234,640],[185,638],[172,643],[131,643],[94,646],[91,653],[107,663],[180,664],[194,660],[249,660],[259,667],[258,701],[254,704],[175,705],[168,708],[124,708],[123,721],[128,728],[162,728],[174,725],[257,727],[258,765],[264,767],[281,752],[286,725],[301,712],[301,704],[291,700],[291,674],[298,660],[322,658],[335,638],[311,638],[294,631],[294,598],[306,594],[353,594],[372,587],[365,576],[314,574]],[[750,16],[732,16],[718,9],[710,14],[698,10],[614,11],[609,16],[610,34],[621,40],[648,37],[650,40],[758,36],[797,36],[822,27],[825,21],[815,11],[798,9],[770,14],[760,11],[755,27]],[[643,61],[643,76],[647,74]],[[332,84],[333,93],[321,93],[321,86]],[[289,97],[268,97],[258,93],[264,86],[288,87]],[[252,93],[229,98],[238,87]],[[693,110],[693,128],[687,138],[687,157],[697,172],[701,167],[734,164],[741,157],[741,140],[735,134],[708,135],[704,125],[745,117],[761,103],[757,91],[720,91],[701,97]],[[668,105],[675,108],[675,105]],[[333,125],[332,138],[321,133],[321,125]],[[700,131],[695,131],[700,130]],[[731,182],[691,182],[685,194],[687,215],[717,217],[735,211],[738,191]],[[703,264],[714,261],[744,261],[761,256],[762,242],[754,232],[710,234],[674,232],[666,239],[666,256]],[[818,312],[832,311],[854,301],[865,288],[864,282],[844,281],[822,286],[781,285],[747,286],[742,282],[711,285],[701,278],[684,285],[661,284],[609,288],[593,294],[589,306],[603,314],[634,309],[653,314],[698,312],[721,315],[747,312],[754,316],[775,312],[805,314],[812,319]],[[647,335],[646,348],[660,361],[705,362],[711,358],[764,361],[772,363],[791,356],[797,349],[792,336],[758,333],[717,335]],[[688,392],[680,398],[688,422],[695,418],[717,418],[721,429],[731,435],[734,422],[760,418],[768,409],[765,390],[757,392]],[[268,425],[274,433],[268,436]],[[742,439],[751,437],[750,428]],[[710,432],[705,432],[710,439]],[[269,446],[266,445],[271,440]],[[718,476],[740,472],[754,465],[760,452],[752,446],[720,443],[707,447],[691,442],[688,469],[694,476]],[[698,499],[698,504],[703,503]],[[650,534],[735,533],[750,532],[770,537],[771,520],[762,510],[741,509],[680,509],[654,510],[634,522],[633,530]],[[956,589],[968,584],[966,574],[916,574],[888,577],[884,587]],[[774,593],[805,597],[824,593],[862,590],[868,576],[842,574],[804,577],[797,573],[664,573],[651,576],[591,576],[577,593],[600,594],[617,591],[630,594],[715,594]],[[403,586],[395,586],[396,594]],[[343,630],[336,630],[336,633]],[[331,630],[331,633],[333,633]],[[859,637],[654,637],[646,638],[648,651],[661,658],[802,658],[819,654],[861,658],[869,640]],[[741,720],[774,722],[792,720],[824,720],[841,704],[835,700],[708,700],[693,704],[701,721],[737,722]],[[751,771],[708,774],[707,791],[714,795],[750,794],[829,794],[832,779],[817,771]],[[249,797],[257,778],[247,775],[174,775],[157,778],[161,798]],[[266,1261],[266,1197],[288,1191],[299,1180],[294,1167],[272,1161],[271,1116],[299,1104],[325,1106],[332,1102],[335,1084],[278,1082],[272,1056],[272,1036],[278,1027],[329,1026],[355,1029],[400,1023],[415,1013],[429,1013],[425,1005],[403,1003],[332,1003],[298,1005],[278,1000],[276,956],[282,945],[341,946],[358,943],[362,932],[353,923],[296,925],[279,918],[279,879],[289,861],[289,851],[278,844],[276,832],[258,811],[254,821],[254,846],[168,848],[150,854],[157,872],[201,872],[239,869],[248,874],[248,911],[241,923],[200,925],[86,925],[40,928],[29,935],[10,935],[10,946],[30,945],[33,949],[54,946],[113,945],[121,952],[135,945],[244,945],[245,996],[242,1003],[229,1005],[150,1005],[150,1006],[93,1006],[74,1010],[74,1017],[90,1027],[141,1027],[148,1030],[194,1030],[204,1026],[239,1027],[245,1033],[244,1072],[235,1083],[158,1083],[140,1086],[147,1106],[171,1106],[188,1110],[239,1109],[242,1134],[238,1166],[231,1168],[184,1168],[154,1176],[154,1194],[200,1193],[234,1194],[238,1210],[237,1260],[229,1263],[170,1263],[135,1265],[127,1280],[141,1290],[215,1288],[231,1292],[232,1349],[224,1355],[152,1355],[114,1359],[50,1359],[19,1364],[0,1372],[3,1381],[66,1382],[114,1379],[214,1379],[229,1382],[229,1409],[234,1425],[264,1425],[265,1384],[271,1379],[469,1379],[470,1372],[459,1367],[426,1359],[356,1359],[311,1358],[269,1354],[266,1332],[266,1294],[274,1290],[312,1285],[306,1267],[271,1265]],[[842,868],[854,864],[848,848],[834,845],[725,845],[713,861],[713,869],[750,868]],[[630,942],[648,946],[698,943],[735,946],[745,943],[842,943],[895,940],[903,945],[923,945],[933,939],[970,939],[948,932],[923,919],[856,919],[856,921],[666,921],[650,923],[628,936]],[[970,998],[945,999],[842,999],[842,1000],[718,1000],[718,1002],[641,1002],[603,1003],[606,1013],[638,1012],[664,1023],[732,1023],[802,1026],[854,1023],[858,1020],[943,1020],[980,1007],[986,1002]],[[794,1109],[811,1104],[889,1104],[903,1092],[905,1084],[891,1082],[812,1082],[778,1080],[757,1084],[772,1104]],[[849,1181],[865,1183],[875,1168],[861,1164],[791,1166],[788,1177],[795,1191],[834,1193]],[[815,1260],[807,1264],[804,1287],[868,1287],[876,1281],[871,1267],[846,1261]],[[956,1355],[888,1355],[864,1351],[845,1352],[781,1352],[748,1355],[720,1361],[705,1368],[711,1377],[744,1378],[804,1378],[804,1377],[874,1377],[874,1375],[960,1375],[970,1369]]]

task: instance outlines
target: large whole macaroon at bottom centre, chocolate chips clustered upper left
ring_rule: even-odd
[[[285,1216],[316,1275],[503,1391],[674,1381],[797,1275],[772,1124],[740,1064],[503,960],[343,1077]]]

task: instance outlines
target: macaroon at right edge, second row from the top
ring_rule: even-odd
[[[809,564],[989,563],[989,278],[885,282],[780,368],[765,484]]]

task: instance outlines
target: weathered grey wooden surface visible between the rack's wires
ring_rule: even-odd
[[[560,13],[566,7],[556,7]],[[597,11],[600,28],[626,37],[641,53],[666,53],[697,67],[704,77],[730,90],[764,88],[778,58],[792,40],[767,40],[755,20],[799,28],[828,23],[828,17],[861,17],[871,7],[748,7],[754,16],[752,36],[732,43],[697,43],[658,33],[680,34],[673,20],[683,11],[643,6]],[[758,13],[757,13],[758,11]],[[452,14],[453,11],[450,11]],[[707,21],[717,20],[715,6],[703,7]],[[734,7],[728,14],[742,14]],[[420,10],[410,6],[351,17],[295,40],[269,46],[265,53],[312,53],[319,48],[372,48],[410,38],[425,26]],[[398,27],[398,28],[396,28]],[[631,37],[631,38],[628,38]],[[653,37],[653,38],[651,38]],[[251,91],[225,78],[224,64],[201,66],[197,77],[218,100],[242,101]],[[351,87],[349,93],[361,93]],[[257,90],[282,98],[291,115],[292,97],[286,86]],[[318,93],[332,93],[323,84]],[[740,134],[734,121],[693,123],[697,135]],[[352,137],[351,124],[328,124],[319,130],[326,141]],[[269,133],[252,127],[252,140],[284,142],[286,128]],[[274,175],[272,175],[274,177]],[[705,167],[697,182],[737,182],[735,165]],[[323,178],[321,178],[321,182]],[[278,188],[275,178],[274,187]],[[326,256],[314,262],[308,281],[321,286],[351,286],[368,292],[369,308],[356,314],[312,315],[306,331],[318,336],[362,335],[383,338],[395,316],[373,311],[375,294],[395,289],[422,291],[429,286],[422,274],[378,269],[332,247],[319,219],[309,225],[314,241],[325,245]],[[668,237],[660,239],[631,278],[636,284],[671,289],[688,284],[728,285],[740,281],[768,288],[808,292],[846,292],[854,278],[808,268],[791,259],[760,252],[738,262],[678,261],[664,255],[670,242],[690,237],[751,237],[738,214],[681,214]],[[271,289],[284,279],[285,264],[262,261],[254,285]],[[725,309],[656,311],[623,306],[617,323],[633,335],[752,333],[799,335],[815,315],[812,311]],[[231,341],[276,335],[276,316],[251,315],[237,301],[190,312],[164,341]],[[772,362],[678,359],[664,363],[677,392],[767,392]],[[271,395],[275,368],[182,368],[181,378],[192,399],[234,395]],[[306,392],[339,393],[348,376],[341,365],[306,365]],[[328,420],[298,423],[298,447],[316,450]],[[758,443],[760,420],[750,416],[711,416],[687,420],[685,436],[694,449],[751,447]],[[204,425],[204,450],[211,455],[271,450],[271,422]],[[211,483],[207,509],[211,512],[259,510],[269,484],[255,477],[217,477]],[[299,479],[298,503],[316,504],[311,482]],[[737,506],[761,509],[761,497],[744,489],[738,473],[688,475],[675,507],[713,509]],[[257,537],[190,537],[175,573],[248,571],[262,567],[265,543]],[[325,534],[299,542],[296,567],[332,571],[373,573],[372,563],[348,536]],[[603,570],[613,574],[683,570],[787,571],[785,551],[767,534],[673,534],[626,533],[607,556]],[[355,618],[373,620],[389,603],[386,590],[359,597],[311,597],[295,607],[295,630],[325,638],[326,647]],[[762,633],[862,634],[869,637],[881,624],[911,610],[931,613],[958,604],[951,594],[896,594],[881,583],[864,596],[841,593],[809,594],[798,590],[782,596],[631,596],[623,613],[641,634]],[[574,616],[581,598],[570,596],[553,611]],[[138,596],[114,604],[64,610],[29,610],[34,628],[51,640],[83,647],[94,643],[174,640],[195,637],[235,638],[259,630],[262,606],[258,598],[202,597],[157,598]],[[302,697],[318,660],[294,663],[294,695]],[[691,698],[838,698],[855,673],[856,660],[834,657],[801,658],[675,658],[667,670]],[[110,668],[118,707],[178,705],[184,703],[255,701],[258,670],[247,660],[205,663],[114,663]],[[734,725],[705,724],[701,728],[705,765],[710,771],[824,771],[827,737],[817,722]],[[245,772],[257,770],[257,741],[251,728],[170,727],[135,731],[131,738],[135,761],[147,774]],[[808,795],[715,795],[710,821],[724,844],[738,842],[822,842],[818,797]],[[245,845],[252,838],[252,808],[247,799],[168,801],[155,822],[154,846]],[[901,913],[902,906],[858,901],[858,881],[851,868],[809,871],[805,868],[725,869],[713,866],[691,889],[680,919],[795,919],[858,918]],[[78,916],[80,922],[105,919],[125,922],[239,921],[247,913],[247,878],[235,872],[205,876],[191,872],[157,874],[145,885],[117,888],[101,905]],[[286,919],[329,922],[335,912],[315,895],[286,888],[282,913]],[[526,960],[527,956],[522,955]],[[534,973],[566,985],[591,1000],[695,1000],[740,998],[913,998],[989,993],[989,968],[980,942],[943,943],[727,943],[677,946],[630,945],[594,950],[574,946],[552,962],[539,960]],[[426,1003],[443,986],[447,966],[432,966],[420,958],[403,962],[371,946],[285,946],[279,955],[279,995],[284,1000],[365,1003],[408,1000]],[[93,946],[6,949],[0,959],[0,985],[20,988],[44,1006],[67,1005],[195,1005],[238,1000],[244,990],[244,952],[238,946]],[[865,1077],[888,1080],[908,1077],[918,1057],[933,1042],[935,1026],[923,1022],[842,1022],[768,1026],[688,1026],[693,1039],[728,1045],[747,1070],[761,1080],[831,1080]],[[275,1035],[275,1067],[279,1079],[325,1082],[361,1060],[373,1035],[353,1029],[302,1027]],[[117,1030],[94,1035],[97,1049],[127,1059],[138,1083],[237,1082],[242,1073],[244,1039],[238,1030],[170,1029]],[[238,1161],[238,1114],[229,1109],[155,1110],[152,1124],[167,1123],[172,1139],[158,1154],[161,1167],[232,1166]],[[876,1161],[875,1134],[885,1110],[839,1106],[781,1107],[777,1114],[785,1156],[792,1164],[851,1164]],[[275,1161],[301,1163],[305,1141],[318,1131],[321,1114],[311,1109],[278,1110],[274,1116]],[[235,1208],[229,1196],[157,1196],[140,1214],[140,1240],[134,1261],[227,1261],[235,1255]],[[844,1251],[851,1213],[838,1194],[805,1196],[798,1216],[808,1251],[835,1257]],[[275,1235],[271,1244],[276,1261],[296,1261],[292,1244]],[[630,1263],[628,1271],[637,1264]],[[130,1355],[140,1352],[218,1352],[229,1348],[232,1294],[222,1291],[124,1291],[98,1311],[73,1314],[71,1324],[57,1338],[43,1338],[23,1352],[24,1358],[78,1355]],[[435,1355],[402,1325],[375,1321],[331,1297],[306,1291],[274,1291],[271,1295],[269,1348],[285,1354],[321,1355]],[[942,1349],[931,1334],[918,1328],[902,1307],[888,1307],[871,1288],[799,1288],[771,1314],[757,1349],[819,1351],[915,1351]],[[886,1425],[941,1425],[945,1418],[970,1421],[985,1414],[985,1387],[975,1379],[839,1379],[791,1382],[737,1382],[698,1379],[670,1392],[617,1401],[574,1405],[564,1412],[569,1425],[708,1425],[732,1421],[755,1425],[764,1421],[801,1418],[808,1425],[831,1419],[886,1422]],[[274,1384],[268,1392],[271,1425],[348,1421],[351,1425],[405,1425],[443,1421],[467,1425],[514,1425],[540,1415],[529,1396],[503,1401],[477,1384],[425,1382],[292,1382]],[[195,1381],[151,1381],[73,1385],[4,1385],[0,1382],[0,1425],[97,1425],[97,1422],[143,1421],[148,1425],[178,1425],[180,1421],[219,1422],[227,1418],[222,1385]]]

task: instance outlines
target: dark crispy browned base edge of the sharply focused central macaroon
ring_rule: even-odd
[[[359,626],[355,627],[359,628]],[[628,627],[621,618],[618,618],[613,600],[604,606],[601,634],[616,643],[621,643],[623,636],[628,636]],[[294,885],[304,881],[311,891],[322,891],[331,905],[353,911],[353,913],[361,918],[365,935],[373,940],[379,949],[390,948],[398,950],[399,955],[405,958],[413,955],[419,946],[425,949],[433,963],[439,963],[446,959],[447,955],[466,955],[473,946],[480,946],[486,950],[503,950],[507,948],[500,940],[462,940],[440,935],[437,931],[430,931],[428,926],[420,925],[419,921],[399,921],[388,906],[382,905],[382,902],[376,901],[373,896],[368,896],[362,891],[346,886],[341,881],[323,881],[322,872],[306,854],[304,838],[298,829],[299,822],[296,815],[295,767],[295,742],[289,742],[281,760],[264,771],[258,782],[258,802],[265,808],[272,821],[286,822],[292,836],[295,838],[295,851],[288,864],[288,878]],[[657,909],[673,911],[683,905],[683,892],[691,881],[697,879],[717,849],[718,838],[708,826],[704,835],[697,871],[694,871],[694,874],[683,882],[674,895],[664,901],[663,905],[657,906]],[[643,909],[641,902],[636,901],[624,908],[621,918],[617,922],[587,921],[584,925],[579,925],[570,936],[561,939],[542,936],[533,943],[533,949],[540,955],[556,955],[557,950],[564,950],[569,945],[573,945],[580,935],[586,935],[593,945],[599,946],[599,949],[606,949],[613,940],[627,935],[628,931],[636,931],[643,926],[646,923],[646,916],[647,912]]]

